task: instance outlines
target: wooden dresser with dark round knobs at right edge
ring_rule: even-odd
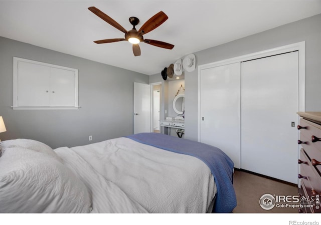
[[[305,207],[299,212],[321,212],[321,112],[298,112],[300,156],[299,195]],[[309,207],[310,206],[310,207]]]

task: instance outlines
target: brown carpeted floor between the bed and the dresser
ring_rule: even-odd
[[[237,206],[233,213],[297,213],[297,208],[276,207],[263,209],[259,200],[263,194],[297,195],[297,186],[268,179],[245,171],[234,172],[233,186],[236,192]]]

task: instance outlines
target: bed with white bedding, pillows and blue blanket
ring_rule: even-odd
[[[233,162],[220,149],[138,133],[52,149],[0,142],[0,212],[203,213],[236,206]]]

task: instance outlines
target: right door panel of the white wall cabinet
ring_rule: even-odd
[[[61,68],[50,68],[50,105],[75,105],[75,72]]]

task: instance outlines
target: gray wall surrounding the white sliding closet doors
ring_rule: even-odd
[[[305,110],[321,111],[321,14],[194,52],[197,65],[305,41]],[[246,24],[244,24],[246,25]],[[193,52],[191,52],[193,53]],[[184,55],[182,55],[184,57]],[[154,82],[160,73],[150,76]],[[185,138],[198,138],[198,69],[185,71]]]

